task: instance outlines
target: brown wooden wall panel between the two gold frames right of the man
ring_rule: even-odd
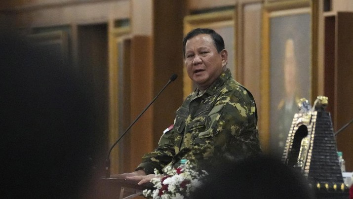
[[[236,81],[244,85],[254,97],[258,121],[261,121],[261,41],[264,0],[239,0],[237,4],[237,73]],[[261,132],[261,129],[259,129]],[[262,133],[259,133],[263,145]]]

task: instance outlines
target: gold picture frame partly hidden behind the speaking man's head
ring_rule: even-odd
[[[235,9],[187,15],[184,18],[184,35],[195,28],[211,28],[223,37],[225,48],[228,51],[227,66],[230,68],[233,77],[236,74],[235,18]],[[183,97],[186,98],[194,91],[196,85],[190,80],[185,66],[183,66],[183,83]]]

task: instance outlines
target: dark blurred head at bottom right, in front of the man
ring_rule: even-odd
[[[208,181],[193,199],[312,199],[309,184],[300,173],[279,160],[259,156],[223,163],[210,171]]]

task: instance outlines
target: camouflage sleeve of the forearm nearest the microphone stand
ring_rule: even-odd
[[[162,168],[171,162],[174,155],[174,130],[171,129],[163,133],[153,152],[142,157],[142,162],[136,170],[143,169],[147,175],[154,173],[155,168],[161,172]]]

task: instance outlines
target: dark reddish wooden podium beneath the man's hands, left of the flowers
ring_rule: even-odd
[[[95,195],[102,199],[131,199],[142,195],[145,189],[154,189],[152,183],[138,185],[137,182],[124,178],[101,178]]]

